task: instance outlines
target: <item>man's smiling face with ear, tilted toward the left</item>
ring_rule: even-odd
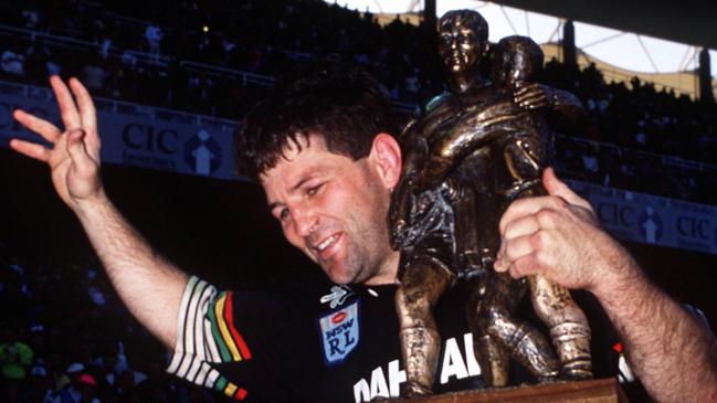
[[[337,284],[396,278],[398,253],[389,246],[386,216],[400,155],[399,172],[387,180],[377,152],[354,160],[327,150],[320,137],[298,137],[260,176],[284,236]]]

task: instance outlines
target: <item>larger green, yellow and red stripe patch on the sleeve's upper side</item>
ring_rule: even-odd
[[[207,318],[211,322],[212,333],[222,362],[242,361],[252,358],[244,339],[234,327],[233,293],[224,291],[210,307]]]

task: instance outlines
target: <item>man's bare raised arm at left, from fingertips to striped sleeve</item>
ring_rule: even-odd
[[[76,78],[70,79],[72,94],[57,76],[51,77],[50,84],[65,130],[15,110],[18,121],[53,147],[18,139],[10,147],[48,163],[55,191],[80,219],[120,298],[137,320],[171,349],[187,275],[152,251],[105,194],[99,179],[96,112],[87,89]]]

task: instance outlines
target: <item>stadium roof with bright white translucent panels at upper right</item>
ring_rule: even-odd
[[[415,15],[424,2],[326,1],[359,11],[368,9],[379,15]],[[586,57],[602,62],[605,67],[620,70],[616,74],[628,76],[633,73],[692,75],[698,66],[700,49],[709,46],[713,49],[711,74],[717,77],[717,30],[710,21],[717,15],[716,1],[684,0],[677,4],[635,0],[436,0],[439,15],[463,8],[477,10],[488,20],[491,41],[494,42],[506,35],[520,34],[541,44],[558,43],[565,19],[571,19],[576,21],[576,45]],[[667,86],[684,87],[694,93],[694,77],[687,78],[689,83]],[[679,78],[681,82],[685,79]]]

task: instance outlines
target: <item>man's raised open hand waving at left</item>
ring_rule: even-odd
[[[18,109],[13,117],[53,146],[46,148],[34,142],[12,139],[10,147],[30,158],[46,162],[57,194],[76,211],[84,201],[103,194],[97,114],[89,93],[78,79],[71,78],[67,88],[59,76],[52,76],[50,85],[60,106],[64,130],[45,119]]]

